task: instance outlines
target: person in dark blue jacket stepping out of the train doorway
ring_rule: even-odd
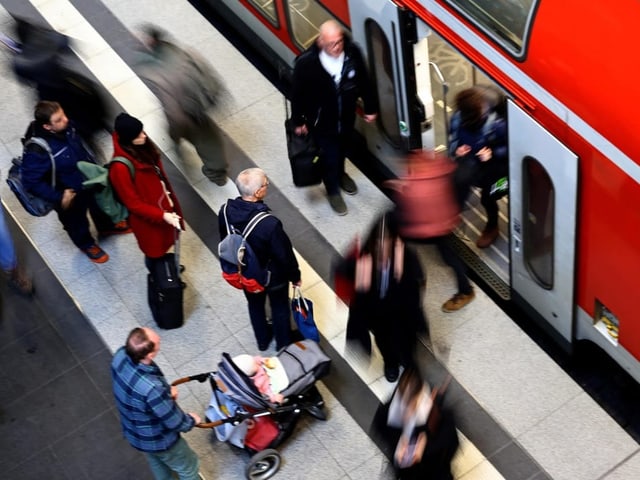
[[[476,241],[487,248],[498,238],[498,203],[501,194],[492,186],[507,175],[507,128],[502,116],[491,109],[483,87],[472,87],[456,95],[457,111],[449,128],[449,155],[458,163],[456,194],[464,207],[472,185],[480,187],[480,203],[487,212],[487,224]]]

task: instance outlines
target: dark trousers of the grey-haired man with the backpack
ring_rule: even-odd
[[[271,322],[276,337],[276,348],[280,350],[291,343],[291,306],[289,304],[288,284],[269,288],[260,293],[244,292],[249,303],[249,318],[258,345],[267,345],[271,340],[271,332],[267,324],[265,303],[269,297],[271,305]]]

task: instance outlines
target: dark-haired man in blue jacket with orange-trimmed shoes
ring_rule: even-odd
[[[27,137],[44,139],[51,149],[55,161],[55,187],[51,185],[53,165],[49,153],[38,145],[29,145],[23,155],[22,182],[33,195],[44,198],[55,205],[58,218],[69,234],[71,241],[92,262],[104,263],[109,255],[102,250],[89,230],[87,211],[102,235],[129,233],[126,221],[114,225],[98,207],[93,193],[83,190],[84,178],[78,170],[81,160],[94,161],[85,148],[75,126],[69,121],[58,102],[38,102]]]

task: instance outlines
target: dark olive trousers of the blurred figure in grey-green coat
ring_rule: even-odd
[[[184,138],[193,145],[202,160],[202,173],[209,180],[227,177],[228,162],[224,154],[222,135],[217,125],[207,115],[189,125],[171,125],[170,136],[174,142]]]

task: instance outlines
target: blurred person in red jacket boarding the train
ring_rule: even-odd
[[[405,176],[386,182],[396,203],[398,231],[407,241],[436,245],[444,262],[454,271],[458,291],[442,311],[460,310],[475,298],[463,261],[448,239],[460,222],[453,175],[456,164],[445,155],[421,150],[409,154]]]

